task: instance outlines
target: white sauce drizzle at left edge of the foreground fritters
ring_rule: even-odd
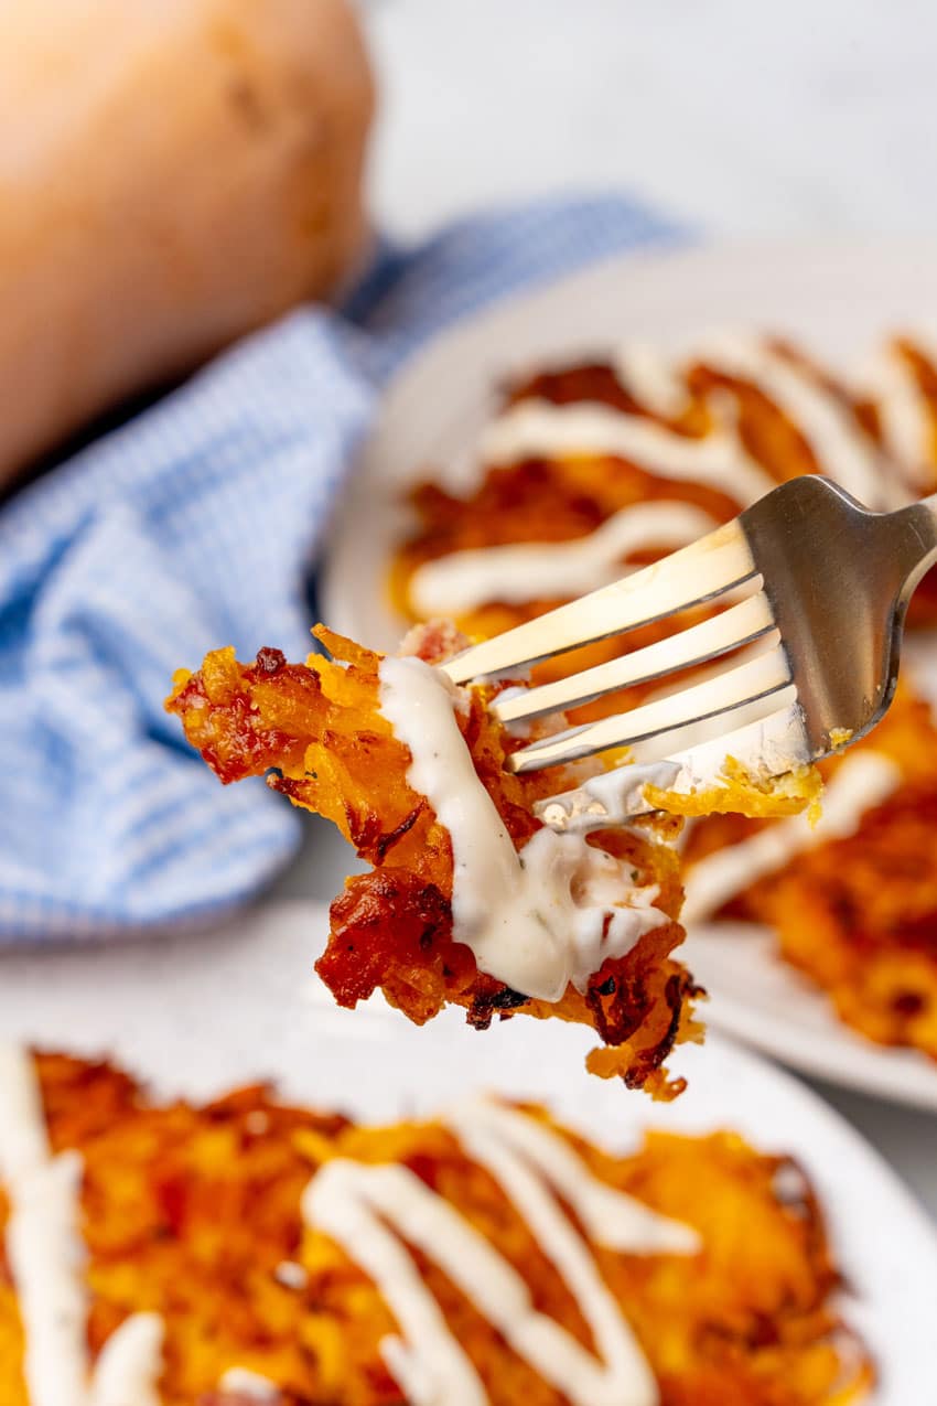
[[[0,1043],[0,1181],[10,1199],[7,1253],[25,1341],[31,1406],[156,1406],[162,1323],[133,1315],[89,1381],[80,1240],[81,1159],[52,1156],[30,1053]]]

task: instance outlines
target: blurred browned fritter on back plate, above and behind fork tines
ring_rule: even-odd
[[[937,426],[937,367],[910,340],[900,340],[902,353],[913,364],[922,391],[933,408]],[[833,398],[857,433],[882,453],[884,472],[900,479],[895,465],[888,464],[878,415],[871,402],[850,394],[830,371],[809,360],[801,350],[780,340],[766,340],[766,346],[780,352],[794,366],[809,375]],[[705,359],[690,361],[680,373],[686,391],[686,405],[670,418],[655,413],[631,392],[618,377],[611,361],[570,363],[507,385],[504,406],[525,401],[545,401],[551,405],[600,405],[627,415],[657,423],[690,440],[705,439],[718,425],[714,416],[714,394],[738,427],[745,450],[775,482],[799,474],[827,472],[819,463],[804,430],[767,398],[756,385],[739,377],[715,370]],[[937,481],[937,429],[933,451]],[[584,537],[596,531],[612,513],[636,503],[677,502],[702,508],[716,522],[728,522],[746,506],[726,488],[721,492],[709,482],[687,478],[667,478],[666,472],[650,472],[638,461],[614,454],[563,453],[539,458],[521,458],[511,464],[482,465],[478,484],[464,494],[440,486],[433,479],[417,482],[409,495],[416,527],[400,546],[389,571],[389,593],[395,609],[409,619],[421,619],[413,610],[409,582],[420,565],[451,553],[511,543],[555,543]],[[649,544],[653,548],[653,544]],[[659,550],[639,551],[629,558],[631,565],[656,560]],[[562,598],[542,598],[527,602],[489,600],[457,620],[471,638],[489,638],[563,605]],[[680,624],[701,619],[701,613],[681,617]],[[937,574],[919,588],[910,610],[912,624],[937,623]],[[673,623],[659,623],[634,631],[628,648],[636,650],[664,637]],[[587,668],[614,658],[621,643],[605,640],[563,658],[559,668]],[[544,661],[534,669],[532,682],[556,678],[555,661]],[[629,706],[641,702],[653,685],[629,690]],[[587,721],[621,707],[621,696],[586,704],[570,714],[573,723]]]

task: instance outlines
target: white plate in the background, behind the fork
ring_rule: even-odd
[[[395,648],[406,621],[386,603],[385,574],[409,526],[405,485],[435,464],[465,463],[466,444],[509,370],[646,339],[679,346],[719,326],[773,329],[823,356],[856,360],[891,328],[937,325],[933,240],[723,245],[628,254],[461,323],[409,363],[385,396],[336,524],[322,616],[375,648]],[[798,1067],[937,1109],[937,1064],[889,1050],[841,1025],[823,997],[771,957],[764,932],[694,941],[715,1026]]]

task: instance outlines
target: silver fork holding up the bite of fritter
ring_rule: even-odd
[[[579,645],[722,606],[657,644],[504,690],[492,704],[518,727],[722,661],[701,682],[511,755],[510,768],[527,772],[627,747],[625,765],[537,807],[556,830],[622,821],[652,808],[648,780],[677,792],[718,785],[728,756],[756,776],[778,776],[868,733],[895,695],[907,602],[934,561],[937,495],[874,513],[830,479],[797,478],[691,546],[443,668],[455,683],[517,678]]]

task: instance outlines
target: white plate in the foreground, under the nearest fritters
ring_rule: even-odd
[[[310,976],[325,907],[282,903],[225,929],[98,950],[10,953],[0,1038],[112,1053],[163,1094],[207,1097],[267,1076],[284,1094],[360,1118],[431,1112],[493,1090],[546,1102],[627,1149],[650,1123],[735,1128],[792,1153],[826,1206],[850,1285],[843,1310],[881,1371],[877,1406],[923,1402],[933,1372],[937,1236],[895,1174],[815,1094],[740,1047],[711,1039],[671,1062],[690,1078],[671,1105],[583,1071],[587,1031],[516,1019],[485,1035],[457,1012],[423,1029],[382,1002],[354,1012]]]

